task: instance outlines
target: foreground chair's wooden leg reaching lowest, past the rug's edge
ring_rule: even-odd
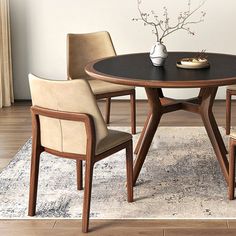
[[[92,180],[93,180],[93,163],[91,160],[86,161],[85,168],[85,186],[84,186],[84,204],[83,204],[83,216],[82,216],[82,232],[87,233],[89,227],[89,214],[90,214],[90,202],[92,192]]]

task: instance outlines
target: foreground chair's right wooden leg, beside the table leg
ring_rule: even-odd
[[[133,202],[133,142],[126,148],[127,200]]]

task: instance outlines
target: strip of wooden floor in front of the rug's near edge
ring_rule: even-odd
[[[235,236],[235,220],[91,220],[92,236]],[[4,220],[2,236],[80,236],[80,220]]]

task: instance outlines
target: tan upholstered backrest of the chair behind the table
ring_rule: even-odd
[[[110,34],[106,31],[88,34],[68,34],[68,79],[88,78],[84,68],[89,62],[115,55],[116,52]]]

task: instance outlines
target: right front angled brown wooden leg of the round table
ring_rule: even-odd
[[[215,117],[212,112],[212,106],[215,100],[217,88],[203,88],[201,89],[201,104],[199,107],[200,115],[202,117],[207,134],[210,138],[212,146],[214,148],[216,157],[219,161],[221,170],[224,174],[225,180],[228,183],[229,180],[229,162],[226,157],[226,148],[215,121]]]

